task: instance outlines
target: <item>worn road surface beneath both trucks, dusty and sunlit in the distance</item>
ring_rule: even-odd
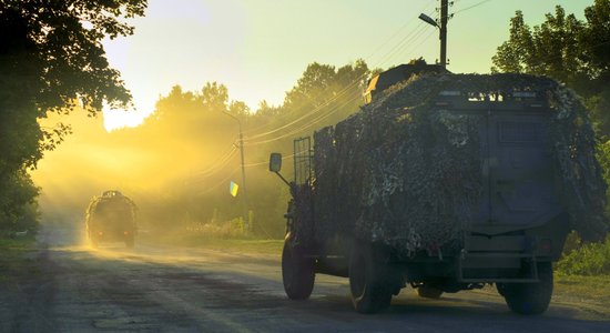
[[[387,312],[360,315],[346,279],[318,275],[311,300],[288,301],[278,255],[94,251],[68,229],[43,229],[39,242],[39,271],[0,293],[2,332],[610,332],[610,316],[578,304],[512,314],[492,289],[436,301],[405,289]]]

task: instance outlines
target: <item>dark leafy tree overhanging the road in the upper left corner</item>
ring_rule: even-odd
[[[63,125],[40,128],[47,112],[80,104],[94,114],[104,102],[129,103],[101,41],[132,34],[125,19],[145,8],[146,0],[0,0],[0,184],[27,186],[23,168],[34,168],[69,132]],[[9,202],[9,192],[3,189],[0,202]],[[0,216],[11,215],[1,209]],[[16,216],[8,219],[0,218],[0,226]]]

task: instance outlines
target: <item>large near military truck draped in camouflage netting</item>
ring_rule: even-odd
[[[293,196],[287,296],[307,299],[323,273],[349,279],[360,313],[407,284],[433,299],[495,284],[514,312],[545,312],[569,231],[608,231],[586,110],[547,78],[401,70],[383,91],[384,73],[370,80],[369,103],[313,149],[295,139],[292,181],[271,154]]]

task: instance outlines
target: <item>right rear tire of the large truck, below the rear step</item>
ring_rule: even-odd
[[[540,314],[547,311],[552,295],[552,264],[538,263],[537,283],[498,283],[497,289],[508,307],[519,314]]]

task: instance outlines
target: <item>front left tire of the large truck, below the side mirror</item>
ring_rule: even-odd
[[[294,246],[289,239],[282,251],[282,281],[291,300],[306,300],[314,290],[316,274],[314,260],[304,256],[302,246]]]

